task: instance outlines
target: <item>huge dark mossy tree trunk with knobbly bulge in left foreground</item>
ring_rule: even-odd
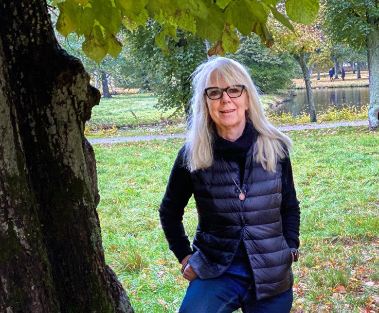
[[[0,312],[133,311],[104,259],[89,82],[44,0],[1,3]]]

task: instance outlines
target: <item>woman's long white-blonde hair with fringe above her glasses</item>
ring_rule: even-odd
[[[206,169],[213,162],[213,135],[216,128],[204,94],[204,89],[211,87],[211,76],[218,86],[219,82],[225,82],[227,86],[246,86],[249,101],[246,117],[258,132],[254,157],[265,170],[275,172],[277,161],[291,150],[292,141],[267,120],[248,71],[240,63],[224,57],[204,62],[192,74],[193,97],[184,149],[186,167],[192,172]]]

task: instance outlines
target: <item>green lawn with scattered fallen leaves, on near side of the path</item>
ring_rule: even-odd
[[[289,132],[301,256],[293,312],[379,311],[379,134],[365,128]],[[136,312],[177,312],[187,281],[158,208],[183,139],[95,145],[106,261]],[[193,199],[184,226],[193,237]]]

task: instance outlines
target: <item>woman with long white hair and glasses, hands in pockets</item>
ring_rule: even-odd
[[[289,312],[300,225],[291,140],[267,121],[239,63],[203,63],[193,88],[189,134],[159,210],[190,281],[179,312]],[[192,194],[193,249],[182,224]]]

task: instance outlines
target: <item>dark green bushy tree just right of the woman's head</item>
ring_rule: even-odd
[[[291,78],[298,76],[299,65],[289,54],[263,46],[257,35],[242,36],[240,41],[238,50],[226,56],[244,64],[261,91],[275,92],[293,86]]]

